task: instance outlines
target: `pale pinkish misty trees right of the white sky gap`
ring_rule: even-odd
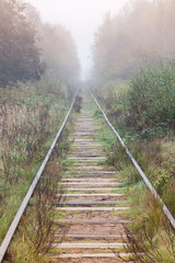
[[[175,56],[174,0],[133,0],[95,34],[94,73],[128,79],[147,62]]]

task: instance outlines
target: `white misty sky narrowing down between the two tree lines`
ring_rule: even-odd
[[[40,13],[43,21],[66,26],[75,41],[82,66],[82,78],[92,66],[91,46],[94,33],[105,13],[117,13],[128,0],[26,0]]]

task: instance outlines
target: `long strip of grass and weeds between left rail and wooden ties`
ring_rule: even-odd
[[[73,107],[69,121],[59,138],[50,160],[36,186],[25,214],[22,217],[18,231],[8,250],[7,263],[40,263],[50,262],[55,250],[52,244],[62,242],[56,233],[65,236],[66,227],[59,226],[55,219],[63,218],[62,213],[56,209],[57,204],[63,201],[60,181],[67,170],[67,152],[70,149],[69,134],[72,128],[77,108]]]

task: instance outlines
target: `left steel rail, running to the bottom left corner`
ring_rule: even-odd
[[[37,183],[38,183],[38,181],[39,181],[39,179],[40,179],[40,176],[43,174],[43,171],[44,171],[44,169],[45,169],[45,167],[46,167],[46,164],[47,164],[47,162],[48,162],[48,160],[49,160],[49,158],[50,158],[50,156],[52,153],[52,150],[54,150],[54,148],[55,148],[55,146],[57,144],[57,140],[60,137],[61,132],[62,132],[62,129],[63,129],[63,127],[65,127],[65,125],[66,125],[66,123],[68,121],[68,117],[69,117],[69,115],[70,115],[70,113],[72,111],[72,107],[74,105],[75,98],[77,96],[74,96],[74,99],[73,99],[73,101],[71,103],[71,106],[70,106],[70,108],[69,108],[69,111],[68,111],[68,113],[67,113],[67,115],[65,117],[65,121],[63,121],[59,132],[57,133],[56,138],[52,141],[52,145],[50,146],[50,148],[49,148],[49,150],[48,150],[48,152],[47,152],[47,155],[46,155],[46,157],[45,157],[45,159],[44,159],[44,161],[43,161],[43,163],[42,163],[42,165],[40,165],[40,168],[39,168],[35,179],[34,179],[33,183],[31,184],[31,186],[28,188],[27,194],[25,195],[25,197],[24,197],[24,199],[23,199],[23,202],[22,202],[22,204],[21,204],[21,206],[20,206],[20,208],[19,208],[19,210],[18,210],[18,213],[16,213],[16,215],[15,215],[15,217],[14,217],[14,219],[13,219],[13,221],[12,221],[12,224],[11,224],[11,226],[10,226],[10,228],[9,228],[4,239],[2,241],[2,243],[1,243],[1,247],[0,247],[0,262],[2,262],[2,260],[3,260],[4,255],[5,255],[5,252],[7,252],[9,245],[10,245],[10,242],[11,242],[11,240],[13,238],[13,235],[14,235],[14,232],[15,232],[18,226],[19,226],[19,222],[20,222],[20,220],[21,220],[21,218],[22,218],[22,216],[23,216],[23,214],[25,211],[25,208],[26,208],[26,206],[27,206],[27,204],[28,204],[28,202],[30,202],[30,199],[31,199],[31,197],[32,197],[32,195],[34,193],[34,190],[35,190],[35,187],[36,187],[36,185],[37,185]]]

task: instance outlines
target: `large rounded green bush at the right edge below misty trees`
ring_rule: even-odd
[[[148,66],[132,78],[128,98],[131,125],[138,129],[174,127],[175,64]],[[148,130],[149,133],[149,130]]]

